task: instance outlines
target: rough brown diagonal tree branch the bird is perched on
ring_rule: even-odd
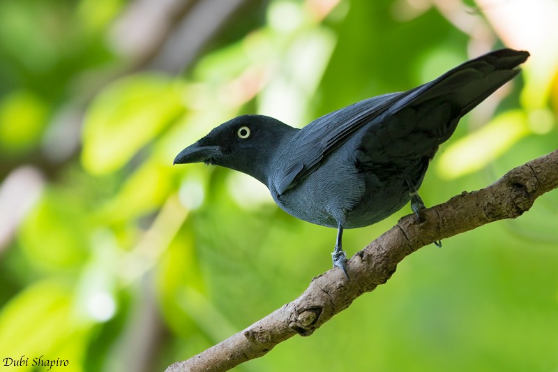
[[[356,297],[386,283],[397,264],[418,248],[492,221],[521,216],[536,198],[555,188],[558,150],[514,168],[486,188],[463,191],[423,210],[421,223],[412,215],[405,216],[347,262],[349,281],[340,270],[329,270],[314,278],[298,299],[218,345],[172,364],[166,372],[227,371],[265,355],[295,334],[310,336]]]

